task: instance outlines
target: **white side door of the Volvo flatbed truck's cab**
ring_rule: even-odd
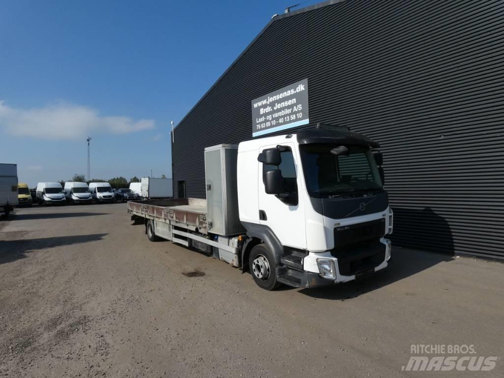
[[[304,220],[304,205],[299,199],[298,188],[301,164],[299,154],[295,146],[290,143],[282,144],[285,151],[281,152],[282,162],[278,169],[282,172],[284,187],[290,193],[290,200],[285,201],[275,195],[266,194],[263,175],[276,166],[259,163],[258,195],[259,195],[259,219],[260,223],[271,228],[283,245],[294,248],[306,248],[306,231]],[[268,148],[276,148],[277,145],[264,146],[259,152]],[[297,198],[297,201],[293,199]]]

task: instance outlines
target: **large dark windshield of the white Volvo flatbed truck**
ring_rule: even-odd
[[[311,197],[355,196],[382,192],[380,172],[365,147],[346,146],[348,153],[335,155],[331,144],[300,146],[306,188]]]

